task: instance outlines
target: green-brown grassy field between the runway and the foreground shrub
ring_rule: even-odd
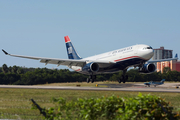
[[[66,86],[74,86],[77,83],[66,83]],[[82,83],[86,85],[85,83]],[[94,86],[97,83],[89,84]],[[98,83],[100,84],[100,83]],[[57,84],[56,84],[57,85]],[[62,84],[61,84],[62,85]],[[65,84],[64,84],[65,86]],[[82,85],[83,86],[83,85]],[[43,90],[43,89],[8,89],[0,88],[0,118],[9,119],[42,119],[38,110],[31,109],[30,99],[34,99],[41,107],[53,107],[52,97],[63,97],[67,100],[77,98],[97,98],[101,96],[134,97],[139,92],[122,91],[81,91],[81,90]],[[180,93],[142,92],[142,94],[160,96],[171,102],[175,111],[180,110]]]

